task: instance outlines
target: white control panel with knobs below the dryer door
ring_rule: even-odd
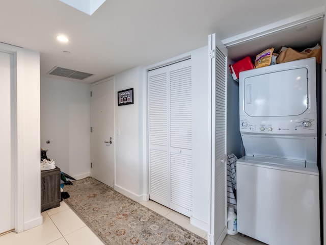
[[[269,118],[268,118],[269,119]],[[317,133],[317,120],[313,117],[262,120],[248,116],[240,116],[241,133],[263,134],[315,134]]]

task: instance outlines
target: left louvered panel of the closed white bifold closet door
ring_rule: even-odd
[[[149,197],[169,206],[168,67],[148,72]]]

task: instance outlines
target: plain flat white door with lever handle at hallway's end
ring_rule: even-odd
[[[92,85],[91,176],[114,185],[114,80]]]

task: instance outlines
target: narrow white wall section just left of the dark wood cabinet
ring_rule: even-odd
[[[23,164],[24,228],[42,224],[40,217],[40,55],[17,52],[18,168]],[[19,177],[18,177],[19,178]]]

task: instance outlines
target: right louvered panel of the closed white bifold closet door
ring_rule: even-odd
[[[187,216],[193,204],[191,60],[169,67],[170,208]]]

